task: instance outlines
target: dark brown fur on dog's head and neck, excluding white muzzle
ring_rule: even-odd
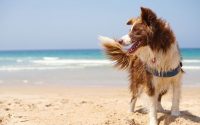
[[[131,40],[144,41],[153,51],[166,52],[170,45],[175,42],[173,31],[166,26],[166,22],[158,19],[156,14],[148,8],[141,7],[141,22],[136,23],[129,33]],[[133,24],[134,20],[128,22]],[[130,23],[131,22],[131,23]]]

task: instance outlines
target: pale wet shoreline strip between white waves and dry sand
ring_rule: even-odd
[[[36,70],[36,71],[0,71],[1,85],[63,85],[63,86],[128,86],[128,73],[108,67],[90,67],[84,69]],[[186,70],[183,86],[200,86],[199,71]]]

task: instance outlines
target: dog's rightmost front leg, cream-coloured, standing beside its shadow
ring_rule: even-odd
[[[171,107],[171,115],[179,116],[179,102],[180,102],[180,94],[181,94],[181,83],[173,84],[173,97],[172,97],[172,107]]]

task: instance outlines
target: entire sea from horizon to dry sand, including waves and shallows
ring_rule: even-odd
[[[181,55],[183,84],[200,85],[200,48],[183,48]],[[103,86],[128,81],[102,50],[16,50],[0,51],[0,84]]]

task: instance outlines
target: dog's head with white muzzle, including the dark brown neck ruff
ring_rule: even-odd
[[[158,19],[156,14],[149,8],[141,7],[141,15],[127,22],[131,25],[129,33],[118,42],[122,45],[133,44],[129,53],[133,53],[141,47],[148,46],[151,50],[166,51],[170,44],[175,41],[173,32],[168,24]]]

